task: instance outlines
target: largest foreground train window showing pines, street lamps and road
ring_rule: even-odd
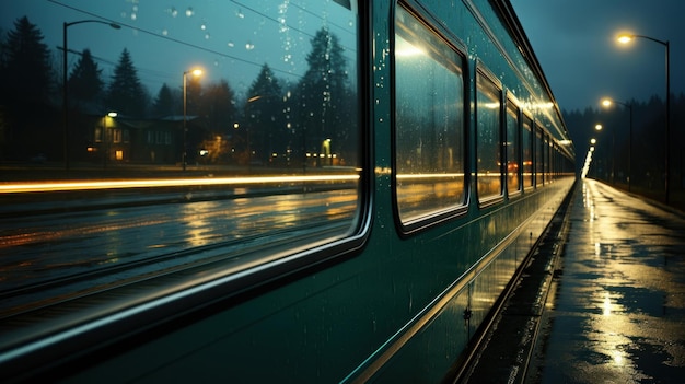
[[[356,1],[190,3],[3,9],[0,318],[356,233]]]

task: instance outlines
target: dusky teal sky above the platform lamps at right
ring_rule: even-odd
[[[671,93],[685,92],[685,0],[511,0],[562,109],[665,97],[665,47],[643,38],[616,43],[622,32],[671,45]]]

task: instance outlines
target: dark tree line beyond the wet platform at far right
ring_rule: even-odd
[[[576,163],[581,166],[594,147],[589,176],[612,184],[659,191],[664,188],[665,152],[670,146],[671,188],[685,185],[685,94],[671,96],[671,135],[666,139],[665,102],[659,96],[648,101],[629,100],[611,107],[564,110],[564,119],[576,147]],[[632,129],[630,129],[630,106]],[[596,130],[595,126],[602,129]],[[632,135],[630,135],[632,131]],[[590,140],[596,143],[591,144]]]

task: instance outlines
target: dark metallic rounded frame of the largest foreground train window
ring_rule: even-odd
[[[317,240],[298,236],[291,244],[270,244],[255,252],[270,256],[256,264],[244,263],[236,267],[230,258],[210,267],[200,263],[175,274],[142,279],[133,284],[83,295],[69,303],[38,309],[35,315],[25,319],[18,317],[21,328],[16,327],[11,340],[1,345],[8,354],[11,353],[7,360],[0,361],[3,374],[19,374],[36,366],[43,372],[50,372],[65,357],[73,357],[74,360],[86,358],[84,350],[100,352],[101,349],[116,349],[124,344],[153,338],[160,331],[183,326],[182,319],[193,321],[198,313],[207,314],[212,307],[224,310],[227,305],[262,294],[265,287],[276,289],[336,260],[359,255],[368,242],[373,220],[373,132],[368,129],[368,126],[373,126],[372,85],[363,71],[372,66],[374,49],[370,14],[371,4],[357,0],[353,16],[357,19],[358,51],[352,63],[357,77],[350,81],[359,93],[355,118],[358,120],[356,144],[361,171],[356,212],[345,234]],[[147,131],[146,139],[150,138],[156,138],[156,135]],[[102,356],[93,353],[92,359]]]

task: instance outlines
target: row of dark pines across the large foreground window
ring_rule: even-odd
[[[62,55],[59,53],[58,55]],[[0,32],[0,161],[26,160],[61,153],[61,68],[53,67],[53,53],[40,30],[24,16],[7,34]],[[236,95],[227,80],[202,85],[187,77],[186,108],[191,120],[188,153],[200,148],[205,161],[267,164],[275,158],[301,163],[318,154],[326,142],[338,161],[353,165],[358,148],[356,83],[348,79],[347,61],[338,37],[322,27],[311,39],[307,70],[297,81],[278,79],[264,63],[245,95]],[[352,84],[351,84],[352,83]],[[70,120],[68,140],[83,142],[92,128],[82,116],[160,119],[183,112],[181,86],[163,84],[152,97],[140,81],[131,54],[125,48],[113,75],[103,71],[90,49],[78,55],[68,74]],[[333,144],[330,144],[333,143]],[[83,149],[71,146],[70,156]],[[282,160],[286,159],[286,160]],[[312,156],[315,165],[326,161]]]

